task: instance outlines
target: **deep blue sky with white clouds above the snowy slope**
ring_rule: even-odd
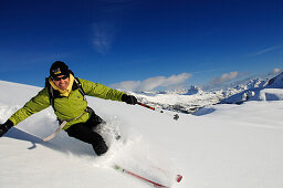
[[[1,0],[0,80],[44,86],[52,62],[127,90],[283,69],[282,0]]]

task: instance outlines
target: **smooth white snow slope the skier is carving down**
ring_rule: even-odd
[[[0,123],[40,90],[0,81]],[[107,122],[102,134],[111,148],[102,157],[65,132],[43,143],[57,127],[49,107],[0,138],[0,187],[153,187],[112,168],[118,164],[175,188],[281,188],[282,90],[264,88],[258,96],[265,100],[211,105],[179,114],[178,121],[143,106],[87,97]],[[112,130],[123,139],[113,139]],[[179,184],[177,174],[184,175]]]

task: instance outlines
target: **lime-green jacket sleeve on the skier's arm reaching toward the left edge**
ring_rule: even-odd
[[[43,88],[36,96],[32,97],[25,105],[17,111],[9,119],[13,125],[19,124],[34,113],[38,113],[50,106],[48,88]]]

